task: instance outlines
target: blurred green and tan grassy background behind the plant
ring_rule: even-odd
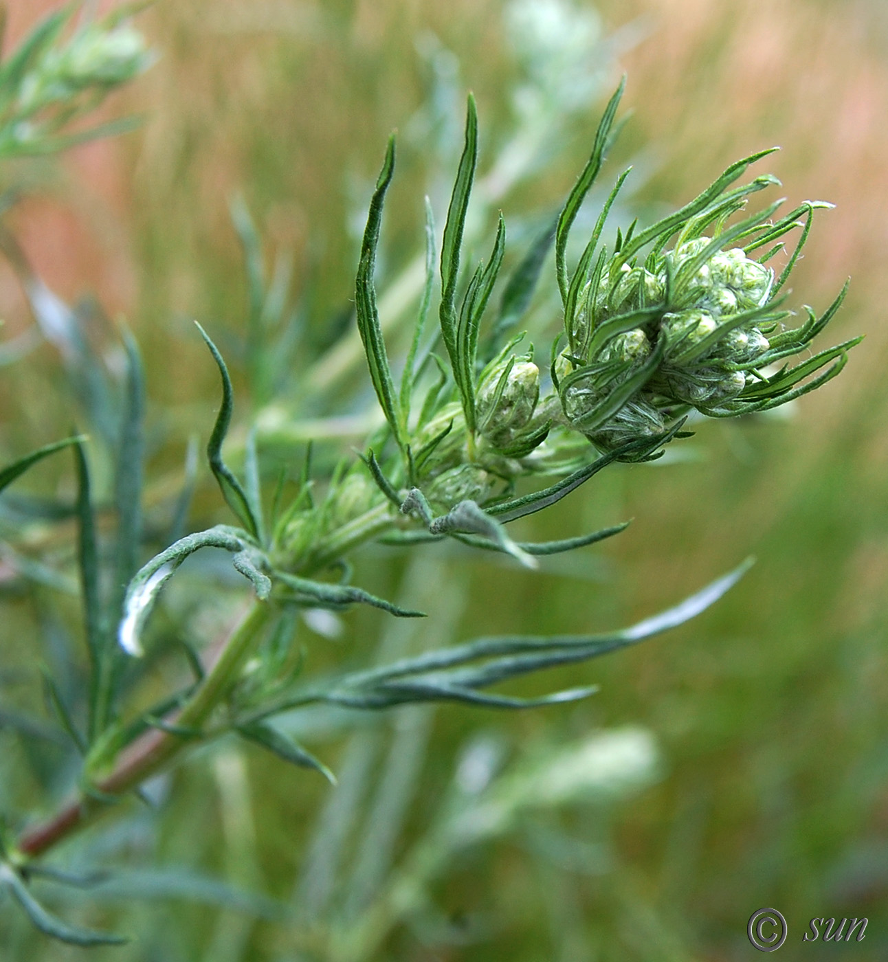
[[[13,37],[54,6],[13,0]],[[499,201],[507,224],[515,221],[520,236],[522,215],[557,206],[625,69],[633,115],[606,179],[635,163],[632,203],[644,216],[696,194],[737,157],[781,144],[771,168],[790,202],[837,205],[815,224],[792,304],[823,310],[851,275],[832,340],[867,339],[837,381],[788,417],[699,425],[672,463],[605,472],[545,522],[546,537],[562,537],[634,519],[613,542],[535,574],[457,552],[436,558],[434,547],[410,566],[366,552],[358,580],[411,600],[426,595],[439,627],[425,630],[441,632],[434,644],[444,644],[507,630],[601,630],[645,617],[750,553],[756,566],[691,624],[552,679],[599,682],[587,702],[520,715],[445,707],[374,720],[357,735],[352,722],[320,720],[314,747],[343,774],[336,790],[249,750],[200,753],[165,786],[156,822],[138,813],[118,828],[109,820],[90,856],[104,845],[135,866],[189,866],[292,903],[301,921],[193,893],[106,896],[98,910],[89,899],[64,903],[69,915],[138,936],[97,957],[325,958],[317,933],[347,912],[330,907],[340,883],[325,896],[317,878],[337,864],[344,877],[360,860],[359,816],[387,752],[416,758],[405,776],[405,827],[392,843],[397,859],[424,837],[467,750],[495,747],[508,764],[623,725],[642,726],[658,746],[644,790],[522,816],[490,844],[456,853],[422,911],[393,924],[366,957],[733,962],[757,957],[746,925],[763,905],[789,922],[783,959],[888,957],[888,19],[877,0],[599,0],[574,13],[600,40],[590,49],[601,71],[575,89],[545,167]],[[11,222],[54,290],[70,299],[94,293],[109,316],[132,324],[157,439],[153,496],[175,477],[190,435],[205,440],[212,425],[216,372],[190,319],[232,350],[243,336],[246,283],[231,198],[242,194],[269,251],[292,256],[290,291],[306,331],[300,350],[315,357],[348,323],[362,217],[391,129],[400,128],[402,150],[381,285],[418,250],[422,193],[440,206],[467,89],[479,105],[481,169],[510,142],[514,91],[526,76],[509,15],[494,0],[161,0],[142,15],[161,58],[109,105],[111,114],[142,114],[140,130],[46,165],[38,194]],[[0,312],[8,337],[30,323],[5,266]],[[57,376],[45,345],[5,369],[4,454],[66,430]],[[254,414],[271,425],[269,457],[296,463],[301,449],[290,450],[277,428],[299,405],[309,415],[348,410],[353,383],[338,383],[326,410],[313,410],[311,384],[288,384],[273,407],[254,396]],[[245,392],[239,405],[246,423]],[[47,485],[52,477],[39,475]],[[206,480],[194,517],[212,520],[221,514]],[[538,525],[534,533],[544,532]],[[38,632],[26,602],[11,610],[5,634]],[[382,624],[349,616],[340,639],[314,644],[353,657],[375,648]],[[3,644],[17,650],[12,634]],[[28,657],[24,645],[19,657]],[[12,735],[0,740],[19,750]],[[6,788],[22,810],[35,793],[27,778]],[[324,818],[339,825],[326,836],[317,829]],[[326,838],[326,862],[318,838]],[[331,839],[341,847],[333,854]],[[314,890],[299,881],[306,873]],[[300,899],[315,899],[314,921]],[[802,944],[807,921],[821,916],[866,916],[866,939]],[[81,950],[0,921],[0,958],[74,957]]]

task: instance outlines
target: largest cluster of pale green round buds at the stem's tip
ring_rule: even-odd
[[[698,237],[646,266],[619,263],[618,256],[595,291],[587,284],[570,332],[573,345],[589,345],[587,353],[577,357],[569,347],[556,371],[565,417],[597,446],[661,433],[688,407],[718,412],[742,394],[754,376],[749,368],[768,352],[774,272],[741,248],[707,257],[713,246]],[[622,330],[620,319],[631,323],[633,316],[638,326]],[[608,403],[630,383],[636,389],[622,403]]]

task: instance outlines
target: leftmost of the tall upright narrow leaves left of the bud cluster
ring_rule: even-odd
[[[382,224],[382,209],[386,191],[392,183],[394,174],[394,135],[389,138],[386,158],[376,181],[376,190],[370,200],[364,242],[361,245],[361,260],[355,280],[355,311],[358,316],[358,331],[364,344],[370,379],[379,404],[392,427],[394,439],[401,450],[406,444],[403,432],[403,418],[394,392],[389,355],[382,336],[379,312],[376,309],[376,287],[373,283],[373,270],[376,266],[376,247],[379,244],[379,230]]]

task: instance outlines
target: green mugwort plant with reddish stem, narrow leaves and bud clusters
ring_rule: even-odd
[[[107,126],[69,130],[107,92],[151,62],[130,25],[132,13],[125,8],[105,19],[87,18],[65,33],[72,16],[66,9],[44,20],[0,63],[0,158],[58,151],[110,132]],[[582,238],[581,253],[572,256],[571,229],[612,143],[622,93],[623,84],[607,104],[588,163],[559,215],[505,278],[502,215],[488,256],[467,263],[466,221],[478,162],[478,122],[469,96],[440,241],[426,202],[419,310],[406,354],[394,364],[375,278],[395,171],[395,139],[390,139],[369,204],[354,289],[355,320],[382,418],[362,449],[332,469],[314,468],[307,452],[294,492],[283,483],[272,491],[255,433],[245,444],[242,477],[226,463],[235,393],[222,352],[199,327],[221,392],[206,453],[232,517],[188,534],[180,526],[148,560],[143,550],[157,536],[149,537],[142,518],[144,388],[137,343],[123,335],[121,382],[82,376],[90,348],[78,339],[76,314],[40,285],[3,228],[3,249],[47,337],[51,332],[63,344],[90,421],[89,439],[74,433],[0,470],[5,490],[41,459],[68,448],[77,483],[66,517],[76,525],[89,653],[83,710],[71,710],[70,696],[49,673],[45,686],[65,736],[81,756],[79,777],[54,812],[10,819],[0,836],[0,890],[43,932],[84,946],[118,941],[51,915],[31,881],[39,876],[76,881],[48,865],[47,853],[113,811],[121,798],[140,794],[147,780],[191,747],[233,734],[333,780],[307,747],[274,725],[276,716],[318,704],[368,712],[441,701],[519,709],[583,698],[595,688],[520,698],[497,686],[588,661],[681,624],[718,600],[747,569],[744,563],[671,609],[605,634],[486,637],[328,675],[307,672],[294,641],[296,615],[304,611],[369,605],[393,618],[423,617],[352,583],[349,557],[362,545],[407,550],[449,539],[535,569],[541,557],[595,544],[626,525],[526,543],[512,536],[511,522],[545,511],[604,468],[661,457],[667,445],[689,436],[692,418],[774,409],[823,386],[845,366],[856,340],[809,350],[845,290],[823,314],[804,308],[797,326],[787,306],[787,281],[813,216],[829,205],[805,202],[778,215],[783,202],[775,201],[749,212],[750,198],[778,183],[770,175],[744,181],[748,168],[769,150],[730,165],[674,213],[613,234],[608,215],[630,175],[623,171]],[[774,259],[796,232],[798,240],[777,270]],[[521,322],[534,291],[545,283],[552,249],[561,330],[541,349],[522,333]],[[114,466],[106,485],[111,524],[99,518],[93,447]],[[193,478],[186,495],[190,487]],[[3,537],[14,545],[14,526],[4,528]],[[158,598],[187,559],[204,548],[227,553],[253,600],[228,637],[207,639],[201,650],[186,646],[190,678],[147,708],[130,704],[140,664],[170,655],[152,631]],[[507,823],[513,807],[503,802],[492,808],[490,825]]]

